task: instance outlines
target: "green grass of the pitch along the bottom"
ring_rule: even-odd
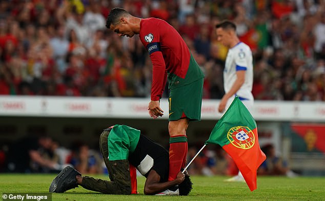
[[[54,174],[0,174],[0,194],[46,193]],[[93,175],[108,179],[106,175]],[[144,177],[138,177],[137,195],[105,195],[82,187],[65,193],[53,193],[52,200],[325,200],[325,177],[258,177],[251,192],[246,183],[224,182],[225,176],[191,176],[189,196],[147,196],[143,194]]]

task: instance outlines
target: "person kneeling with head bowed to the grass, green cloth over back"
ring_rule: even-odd
[[[192,183],[188,174],[178,172],[176,179],[168,181],[168,152],[140,131],[126,125],[105,129],[99,139],[110,181],[82,176],[71,167],[63,169],[50,186],[50,192],[63,193],[78,185],[105,194],[137,193],[135,168],[146,179],[146,195],[188,195]],[[173,187],[174,190],[168,190]]]

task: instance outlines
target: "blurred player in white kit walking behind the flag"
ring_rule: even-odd
[[[224,69],[225,95],[221,98],[219,112],[225,112],[235,96],[251,110],[254,104],[253,87],[253,56],[248,45],[239,41],[236,25],[230,21],[223,21],[216,25],[217,40],[229,48]],[[228,181],[243,181],[238,172]]]

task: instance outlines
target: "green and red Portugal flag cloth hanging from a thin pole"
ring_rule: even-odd
[[[266,155],[258,144],[255,120],[238,97],[218,120],[205,144],[209,143],[219,144],[233,158],[251,191],[257,188],[257,168]]]

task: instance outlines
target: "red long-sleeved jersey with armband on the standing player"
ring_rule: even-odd
[[[159,100],[167,82],[167,73],[185,78],[190,50],[179,33],[158,18],[141,19],[139,37],[152,62],[151,100]]]

